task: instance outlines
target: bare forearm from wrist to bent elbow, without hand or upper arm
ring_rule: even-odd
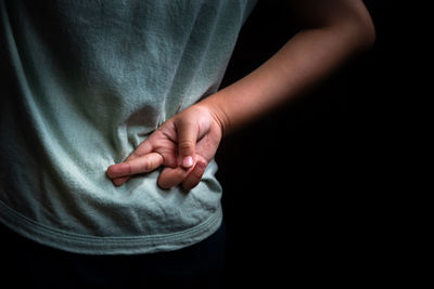
[[[259,68],[201,105],[216,111],[228,133],[323,79],[343,61],[370,45],[370,34],[357,23],[302,30]]]

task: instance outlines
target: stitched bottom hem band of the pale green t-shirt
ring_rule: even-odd
[[[151,236],[98,237],[68,233],[37,223],[0,201],[0,222],[17,234],[60,250],[84,254],[139,254],[178,250],[196,244],[221,225],[221,206],[199,225]]]

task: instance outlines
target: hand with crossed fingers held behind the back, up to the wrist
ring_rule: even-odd
[[[124,162],[110,166],[106,175],[119,186],[130,175],[164,166],[157,180],[161,187],[182,183],[186,189],[191,189],[215,156],[221,135],[217,115],[207,106],[193,105],[165,121]]]

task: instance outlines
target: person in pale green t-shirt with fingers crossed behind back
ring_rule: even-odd
[[[288,1],[305,29],[219,90],[255,2],[0,1],[2,255],[27,276],[13,281],[221,286],[221,137],[375,37],[361,0]]]

